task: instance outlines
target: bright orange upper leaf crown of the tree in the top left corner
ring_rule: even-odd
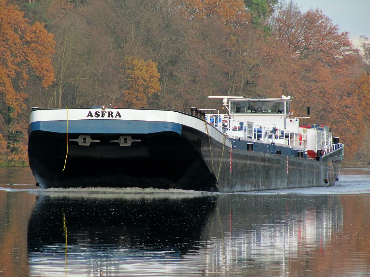
[[[0,0],[0,95],[13,108],[13,116],[24,107],[23,92],[30,71],[47,87],[54,81],[51,57],[55,41],[44,25],[28,25],[23,12]]]

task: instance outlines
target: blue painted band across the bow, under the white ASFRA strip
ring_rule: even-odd
[[[30,124],[32,131],[65,133],[67,120],[38,121]],[[181,124],[172,122],[132,121],[132,120],[70,120],[68,133],[77,134],[151,134],[172,131],[181,135]]]

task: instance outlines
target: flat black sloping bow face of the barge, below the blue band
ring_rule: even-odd
[[[73,138],[69,134],[68,138]],[[77,135],[78,137],[78,135]],[[119,135],[94,134],[101,141]],[[194,147],[198,141],[164,132],[132,136],[141,143],[119,146],[68,144],[63,134],[30,136],[30,167],[41,188],[140,187],[217,191],[213,174]],[[65,162],[65,169],[64,168]]]

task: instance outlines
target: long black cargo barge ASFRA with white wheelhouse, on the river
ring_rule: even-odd
[[[243,192],[339,179],[343,144],[327,126],[300,125],[290,96],[209,98],[222,98],[227,112],[34,107],[36,185]]]

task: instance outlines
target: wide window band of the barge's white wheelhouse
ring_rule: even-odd
[[[285,113],[290,111],[290,103],[284,101],[230,101],[230,113]]]

